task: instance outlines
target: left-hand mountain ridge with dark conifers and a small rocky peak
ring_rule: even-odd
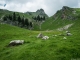
[[[15,13],[15,16],[14,16]],[[22,28],[29,28],[29,25],[36,30],[35,26],[42,24],[43,20],[46,20],[48,15],[43,9],[39,9],[36,12],[14,12],[9,10],[0,9],[0,23],[6,23],[14,26],[19,26]],[[26,21],[28,20],[28,21]],[[28,25],[28,26],[26,26]]]

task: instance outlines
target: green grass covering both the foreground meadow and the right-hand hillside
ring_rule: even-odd
[[[35,31],[0,23],[0,60],[80,59],[80,9],[74,9],[76,10],[76,14],[71,14],[71,17],[75,16],[76,19],[63,19],[59,16],[61,14],[59,11],[55,17],[52,16],[43,22],[41,31],[36,31],[39,30],[39,26],[35,21]],[[68,15],[66,16],[68,17]],[[71,23],[73,25],[67,29],[72,33],[71,36],[66,36],[66,30],[56,30]],[[49,36],[49,39],[42,40],[41,38],[37,38],[36,36],[40,32],[45,36]],[[64,36],[60,36],[60,34]],[[64,37],[67,39],[63,39]],[[25,43],[19,46],[8,47],[9,42],[12,40],[24,40]]]

